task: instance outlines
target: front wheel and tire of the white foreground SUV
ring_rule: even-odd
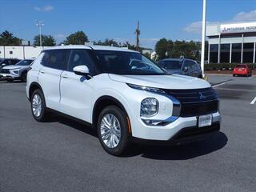
[[[105,118],[105,121],[103,118]],[[117,106],[106,106],[99,114],[97,123],[98,139],[103,149],[106,150],[108,154],[121,156],[125,154],[128,149],[130,145],[130,134],[128,130],[129,122],[127,121],[126,113]],[[110,125],[111,123],[113,123],[113,125]],[[114,125],[116,128],[114,128]],[[106,132],[109,134],[106,134],[106,139],[104,139],[102,134]],[[118,135],[120,135],[119,140]]]

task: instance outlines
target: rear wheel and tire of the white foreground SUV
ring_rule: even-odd
[[[38,102],[37,102],[38,101]],[[40,104],[41,103],[41,104]],[[39,108],[37,108],[37,105]],[[46,101],[42,94],[42,90],[34,90],[31,98],[30,98],[30,106],[33,118],[38,122],[46,122],[47,119],[50,118],[50,113],[46,109]],[[40,107],[41,106],[41,107]],[[38,111],[36,109],[41,109]]]

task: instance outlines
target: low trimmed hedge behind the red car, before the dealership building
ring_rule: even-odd
[[[256,70],[256,64],[246,63]],[[210,63],[205,64],[205,70],[233,70],[238,63]]]

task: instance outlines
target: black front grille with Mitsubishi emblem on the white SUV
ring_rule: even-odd
[[[181,103],[181,117],[213,114],[218,111],[218,94],[210,87],[196,90],[164,90]]]

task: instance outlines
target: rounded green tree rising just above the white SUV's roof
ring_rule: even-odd
[[[66,45],[84,45],[85,42],[89,42],[86,34],[83,31],[78,31],[66,37],[66,41],[64,43]]]

